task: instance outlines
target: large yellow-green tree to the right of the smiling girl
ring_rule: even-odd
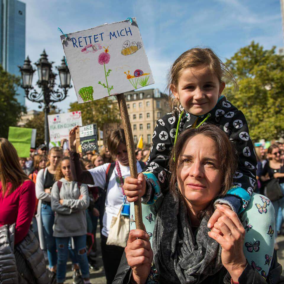
[[[253,141],[270,141],[284,135],[284,60],[275,46],[265,50],[258,43],[239,49],[227,59],[238,83],[227,82],[224,94],[245,116]]]

